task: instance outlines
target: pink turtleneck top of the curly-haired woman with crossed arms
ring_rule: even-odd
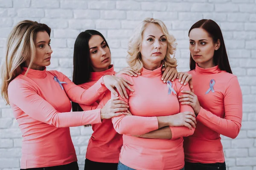
[[[132,135],[141,135],[158,129],[156,116],[174,115],[193,109],[188,105],[180,105],[177,95],[181,90],[189,90],[188,85],[172,82],[171,91],[161,81],[161,67],[153,71],[141,71],[141,76],[130,77],[120,75],[131,81],[134,92],[128,91],[129,99],[125,99],[134,116],[113,117],[115,130],[123,134],[123,146],[119,154],[122,164],[136,170],[180,170],[184,167],[183,136],[192,135],[194,129],[187,127],[170,127],[172,139],[144,139]],[[112,96],[112,94],[111,94]]]

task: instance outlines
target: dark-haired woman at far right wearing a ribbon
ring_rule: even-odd
[[[242,94],[232,74],[221,29],[200,20],[189,30],[190,70],[194,93],[179,96],[197,116],[192,136],[184,138],[186,170],[225,170],[220,135],[236,138],[241,128]]]

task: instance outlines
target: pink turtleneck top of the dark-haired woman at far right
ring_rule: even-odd
[[[241,128],[242,93],[235,75],[221,71],[218,66],[189,71],[193,77],[194,92],[201,110],[192,136],[184,138],[185,160],[189,162],[224,162],[220,134],[236,138]],[[214,80],[213,90],[210,81]],[[212,81],[213,83],[213,81]]]

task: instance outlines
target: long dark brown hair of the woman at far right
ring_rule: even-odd
[[[214,51],[213,62],[215,65],[218,65],[218,68],[223,71],[227,71],[232,74],[230,64],[227,57],[227,51],[224,43],[224,38],[222,36],[221,28],[215,23],[213,20],[200,20],[196,22],[190,29],[189,33],[194,28],[202,28],[208,32],[208,34],[212,37],[213,42],[216,43],[218,39],[221,42],[220,48]],[[190,53],[190,70],[195,69],[195,60],[192,59],[192,55]]]

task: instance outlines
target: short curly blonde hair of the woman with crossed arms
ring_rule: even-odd
[[[145,18],[134,30],[134,34],[131,36],[128,42],[128,55],[127,55],[127,63],[134,71],[140,71],[143,68],[143,62],[141,59],[141,44],[142,44],[142,35],[143,31],[147,27],[149,23],[156,24],[160,26],[163,31],[163,34],[166,36],[167,40],[167,51],[166,56],[163,59],[164,65],[167,67],[177,67],[177,61],[175,59],[175,51],[176,51],[176,39],[173,35],[169,34],[169,31],[166,25],[161,20],[157,20],[154,18]],[[173,57],[171,57],[173,55]]]

